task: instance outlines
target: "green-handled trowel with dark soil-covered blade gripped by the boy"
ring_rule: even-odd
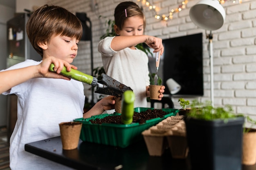
[[[50,65],[49,70],[51,72],[54,72],[54,64]],[[126,90],[132,90],[130,87],[127,87],[126,85],[120,83],[114,78],[111,78],[110,76],[107,76],[104,73],[101,74],[102,80],[100,81],[98,81],[97,78],[91,75],[85,74],[83,72],[80,72],[76,69],[71,69],[70,72],[67,72],[66,67],[63,67],[63,69],[61,70],[61,74],[66,77],[72,78],[77,81],[81,81],[83,83],[87,83],[92,86],[97,85],[98,88],[95,91],[95,93],[99,93],[99,94],[106,94],[110,96],[121,97]]]

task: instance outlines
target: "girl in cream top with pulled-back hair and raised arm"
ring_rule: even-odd
[[[135,45],[146,43],[153,52],[164,52],[161,38],[143,35],[146,26],[144,13],[134,2],[121,2],[115,8],[115,33],[99,42],[106,74],[131,87],[135,93],[134,107],[147,107],[149,97],[148,56]],[[159,100],[164,96],[165,87],[159,90]]]

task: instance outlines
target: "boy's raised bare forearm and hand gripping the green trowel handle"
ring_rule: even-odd
[[[50,72],[49,66],[51,63],[54,63],[54,70],[57,72]],[[39,65],[33,65],[29,67],[24,67],[20,69],[13,69],[0,72],[0,93],[6,92],[11,89],[11,87],[16,86],[20,83],[23,83],[31,78],[63,78],[65,80],[70,80],[61,74],[63,66],[67,67],[67,71],[70,71],[71,68],[77,69],[75,66],[70,65],[64,60],[48,57],[42,61]]]

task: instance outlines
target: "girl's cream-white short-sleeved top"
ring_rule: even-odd
[[[150,85],[148,56],[140,49],[111,49],[114,37],[106,37],[99,42],[103,67],[108,76],[131,87],[135,94],[134,107],[147,107],[146,86]]]

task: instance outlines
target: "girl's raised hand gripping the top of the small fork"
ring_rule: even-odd
[[[154,36],[148,36],[146,38],[145,43],[146,43],[146,45],[148,45],[148,47],[155,49],[153,51],[153,53],[158,52],[160,50],[161,50],[161,54],[160,54],[161,56],[164,53],[164,46],[163,46],[161,38],[157,38]]]

